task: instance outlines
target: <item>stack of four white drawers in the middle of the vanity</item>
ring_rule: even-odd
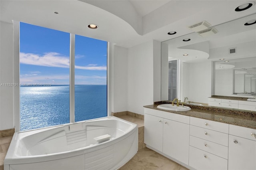
[[[228,124],[190,117],[189,166],[228,169]]]

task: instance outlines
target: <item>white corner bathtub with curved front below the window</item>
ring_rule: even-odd
[[[97,144],[106,134],[110,140]],[[110,116],[16,132],[4,170],[114,170],[137,151],[137,125]]]

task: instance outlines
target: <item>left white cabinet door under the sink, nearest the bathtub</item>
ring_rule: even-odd
[[[144,143],[162,152],[163,118],[144,114]]]

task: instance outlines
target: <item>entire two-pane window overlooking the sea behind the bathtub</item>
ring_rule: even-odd
[[[106,55],[107,42],[20,22],[20,130],[107,116]]]

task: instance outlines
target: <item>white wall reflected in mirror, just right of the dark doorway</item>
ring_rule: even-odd
[[[183,63],[182,74],[182,101],[208,103],[212,88],[212,63],[211,61],[201,63]]]

